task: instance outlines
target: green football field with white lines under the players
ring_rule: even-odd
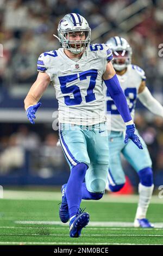
[[[133,227],[137,196],[83,200],[90,223],[82,236],[69,237],[68,224],[59,220],[61,194],[4,191],[0,199],[0,245],[163,245],[163,199],[153,196],[147,217],[154,229]]]

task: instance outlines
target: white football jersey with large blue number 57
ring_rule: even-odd
[[[47,72],[59,104],[59,123],[93,125],[105,121],[102,75],[112,59],[104,44],[90,45],[77,62],[64,48],[42,53],[37,70]]]

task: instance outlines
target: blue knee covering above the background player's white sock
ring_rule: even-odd
[[[138,172],[140,182],[146,187],[151,187],[153,184],[153,172],[151,167],[144,168]]]

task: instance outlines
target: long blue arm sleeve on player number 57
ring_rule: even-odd
[[[118,109],[118,112],[120,112],[123,121],[126,123],[132,120],[127,105],[126,96],[123,93],[117,75],[115,74],[112,78],[104,80],[104,83],[106,84],[107,92],[109,92],[112,100],[114,100],[114,103]]]

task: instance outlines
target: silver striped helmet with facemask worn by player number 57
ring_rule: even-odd
[[[85,40],[69,40],[69,33],[85,32]],[[85,18],[77,13],[66,14],[59,22],[58,36],[60,44],[65,49],[74,54],[78,54],[86,50],[91,40],[91,28]],[[80,44],[80,47],[79,47]],[[74,47],[72,47],[72,45]],[[77,46],[78,45],[78,46]]]

